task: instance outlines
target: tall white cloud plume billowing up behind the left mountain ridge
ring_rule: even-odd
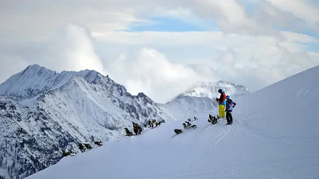
[[[69,24],[46,41],[38,51],[38,64],[56,71],[96,70],[105,75],[104,67],[95,53],[88,29]]]

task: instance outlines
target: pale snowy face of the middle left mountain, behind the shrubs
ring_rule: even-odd
[[[132,122],[144,125],[153,118],[162,123],[173,120],[143,93],[132,96],[123,86],[100,75],[92,83],[73,77],[62,87],[41,95],[37,104],[61,126],[70,129],[73,136],[77,136],[77,132],[73,134],[75,128],[90,136],[91,142],[121,137]]]

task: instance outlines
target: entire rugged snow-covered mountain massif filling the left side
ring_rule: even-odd
[[[144,125],[153,118],[162,122],[174,120],[145,94],[131,95],[108,76],[90,70],[57,73],[31,65],[1,84],[0,94],[7,96],[0,99],[2,103],[19,106],[18,111],[1,109],[5,116],[1,120],[6,125],[0,134],[0,146],[8,147],[9,153],[1,153],[0,171],[4,172],[0,175],[9,178],[54,164],[61,159],[62,149],[76,147],[78,142],[94,145],[95,141],[121,137],[132,122]],[[30,110],[43,119],[29,117]],[[20,124],[19,120],[27,122]],[[12,139],[22,142],[18,145]]]

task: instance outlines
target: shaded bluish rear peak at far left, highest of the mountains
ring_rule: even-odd
[[[30,65],[2,83],[0,94],[10,96],[21,104],[31,106],[40,94],[61,87],[73,76],[90,79],[96,74],[97,72],[89,70],[57,73],[39,65]]]

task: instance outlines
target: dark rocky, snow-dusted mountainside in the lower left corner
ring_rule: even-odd
[[[23,178],[55,164],[61,150],[78,141],[44,109],[2,95],[0,124],[0,178]]]

